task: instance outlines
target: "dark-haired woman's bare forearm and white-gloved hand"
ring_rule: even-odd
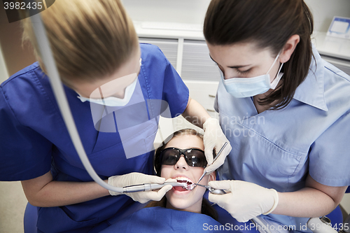
[[[276,192],[246,181],[211,181],[212,188],[226,189],[226,195],[212,195],[209,201],[228,211],[239,222],[260,214],[314,218],[330,213],[344,196],[346,187],[330,187],[307,177],[305,188],[295,192]]]

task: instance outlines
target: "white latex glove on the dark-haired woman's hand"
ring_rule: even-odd
[[[230,190],[225,195],[209,192],[209,201],[221,206],[241,223],[260,214],[267,215],[276,209],[279,195],[274,189],[263,188],[246,181],[210,181],[212,188]]]

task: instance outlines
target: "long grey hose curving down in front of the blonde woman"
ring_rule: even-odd
[[[76,129],[76,124],[73,120],[73,116],[71,115],[71,108],[69,108],[62,82],[59,79],[59,73],[55,64],[55,59],[52,55],[48,36],[46,35],[45,27],[43,25],[43,21],[41,20],[40,14],[31,16],[31,25],[34,29],[38,48],[40,50],[43,63],[45,64],[45,69],[48,72],[50,85],[52,87],[53,93],[55,94],[59,110],[61,111],[63,120],[66,124],[66,128],[68,129],[69,136],[71,136],[71,141],[73,142],[73,145],[76,148],[76,152],[78,153],[87,173],[96,183],[101,185],[103,188],[106,188],[107,190],[111,190],[113,192],[123,193],[123,188],[109,185],[97,175],[96,171],[94,171],[89,159],[87,158],[83,144],[81,143],[80,136],[78,134],[78,130]]]

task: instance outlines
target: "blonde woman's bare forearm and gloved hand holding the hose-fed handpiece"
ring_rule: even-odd
[[[43,176],[21,182],[28,202],[33,206],[66,206],[108,195],[121,195],[102,188],[94,181],[53,181],[50,171]],[[111,176],[104,182],[116,187],[124,187],[142,183],[164,183],[165,178],[133,172],[122,176]],[[135,202],[146,203],[150,200],[159,201],[171,189],[172,185],[165,185],[158,191],[130,192],[125,195],[134,199]]]

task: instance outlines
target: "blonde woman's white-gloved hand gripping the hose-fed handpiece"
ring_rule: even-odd
[[[150,176],[146,174],[141,174],[138,172],[132,172],[130,174],[125,174],[123,176],[111,176],[109,177],[109,185],[115,187],[124,187],[130,185],[139,185],[144,183],[164,183],[165,178],[159,176]],[[127,192],[125,195],[131,197],[135,202],[140,202],[142,204],[153,200],[160,201],[164,197],[165,193],[172,189],[172,185],[165,185],[158,191],[146,191],[146,192]],[[109,194],[116,196],[122,193],[113,192],[109,190]]]

